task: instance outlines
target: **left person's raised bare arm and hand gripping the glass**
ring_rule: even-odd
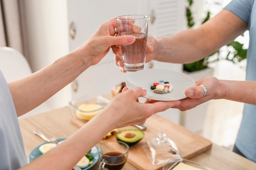
[[[113,45],[130,45],[135,41],[134,36],[114,36],[116,26],[116,19],[112,18],[72,53],[26,78],[10,82],[17,115],[37,107],[85,69],[99,63]]]

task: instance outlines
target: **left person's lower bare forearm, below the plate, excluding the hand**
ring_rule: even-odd
[[[72,170],[72,167],[112,129],[115,117],[108,110],[98,114],[53,150],[38,157],[22,170]]]

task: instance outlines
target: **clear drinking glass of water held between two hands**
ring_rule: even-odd
[[[149,16],[128,15],[116,19],[119,36],[132,35],[136,38],[131,45],[121,45],[124,69],[128,72],[144,69]]]

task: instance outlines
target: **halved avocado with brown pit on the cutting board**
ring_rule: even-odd
[[[144,138],[144,132],[138,129],[121,130],[116,135],[117,141],[122,141],[129,146],[135,145]]]

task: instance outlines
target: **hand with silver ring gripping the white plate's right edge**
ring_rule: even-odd
[[[213,76],[205,76],[195,82],[194,87],[185,90],[187,98],[181,100],[181,104],[173,108],[181,111],[190,110],[211,99],[220,98],[220,82]]]

